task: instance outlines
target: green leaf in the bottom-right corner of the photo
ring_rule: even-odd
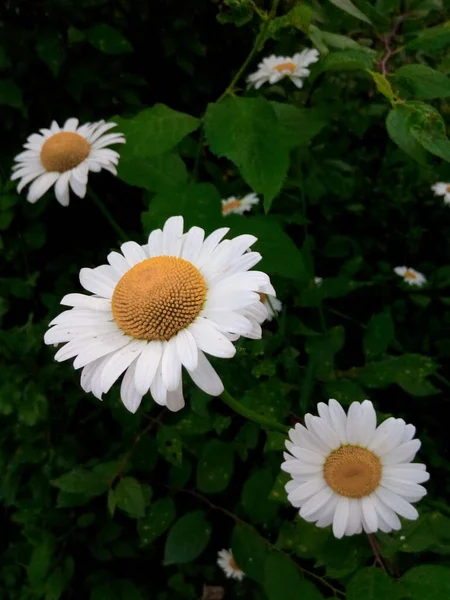
[[[400,579],[413,600],[446,600],[450,597],[450,569],[440,565],[420,565]]]

